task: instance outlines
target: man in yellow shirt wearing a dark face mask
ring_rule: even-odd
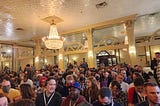
[[[3,78],[0,93],[8,97],[10,103],[14,102],[16,98],[19,98],[21,96],[19,90],[11,88],[11,83],[8,77]]]

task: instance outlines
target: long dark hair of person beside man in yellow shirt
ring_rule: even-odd
[[[32,99],[35,97],[34,91],[29,84],[21,84],[20,91],[23,99]]]

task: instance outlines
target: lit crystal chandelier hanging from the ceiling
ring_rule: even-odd
[[[50,22],[51,21],[51,26],[50,26],[50,32],[49,32],[49,36],[43,37],[42,40],[45,44],[45,46],[48,49],[60,49],[63,47],[63,42],[64,42],[64,37],[61,37],[58,35],[57,32],[57,27],[55,22],[59,22],[62,20],[59,20],[58,17],[56,16],[50,16],[44,19],[44,21],[46,22]]]

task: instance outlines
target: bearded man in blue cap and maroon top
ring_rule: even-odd
[[[74,82],[70,86],[69,96],[64,98],[61,106],[79,106],[82,103],[86,103],[85,97],[80,95],[81,85],[79,82]]]

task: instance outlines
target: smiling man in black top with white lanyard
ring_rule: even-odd
[[[46,91],[36,97],[36,106],[60,106],[62,97],[55,91],[56,87],[56,79],[49,77],[46,80]]]

